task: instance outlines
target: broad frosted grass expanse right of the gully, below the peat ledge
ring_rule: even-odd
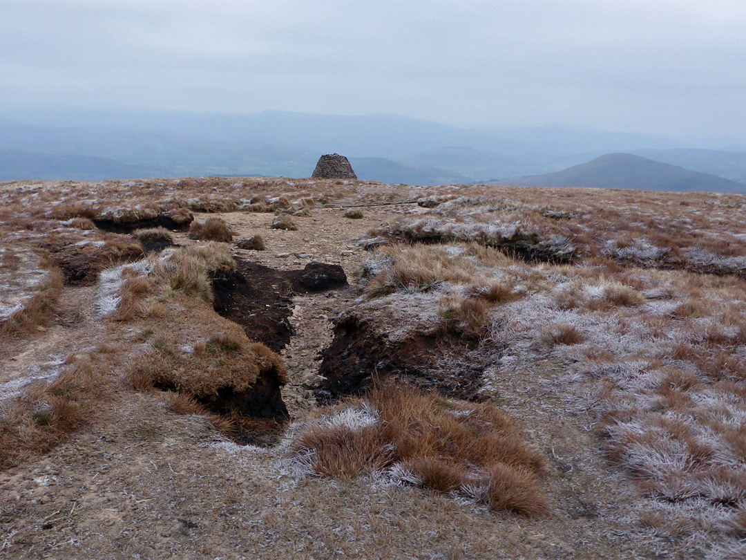
[[[487,250],[382,247],[361,270],[358,309],[386,311],[392,332],[433,335],[404,311],[413,298],[463,302],[499,283],[504,296],[472,316],[492,363],[483,395],[550,361],[567,399],[597,420],[609,461],[648,497],[645,527],[730,535],[746,507],[746,282],[600,260],[530,265]],[[655,514],[661,505],[670,511]]]

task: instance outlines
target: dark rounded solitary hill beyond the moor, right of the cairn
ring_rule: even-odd
[[[631,154],[602,155],[587,164],[562,171],[497,181],[494,184],[746,193],[746,184]]]

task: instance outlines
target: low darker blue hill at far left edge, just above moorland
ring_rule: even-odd
[[[157,177],[155,169],[122,164],[109,158],[0,150],[0,181],[18,179],[100,181]]]

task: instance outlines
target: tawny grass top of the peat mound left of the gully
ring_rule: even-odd
[[[136,388],[159,385],[198,398],[223,388],[248,391],[263,373],[272,371],[286,382],[280,358],[263,344],[248,340],[243,329],[216,314],[211,302],[212,276],[233,270],[228,249],[216,243],[181,247],[165,258],[153,258],[147,269],[132,268],[119,290],[119,320],[154,323],[152,349],[138,356],[128,375]],[[157,308],[156,317],[149,312]],[[131,311],[135,310],[135,311]],[[141,311],[141,312],[138,312]],[[184,324],[184,317],[190,321]],[[169,326],[163,328],[163,323]],[[195,327],[200,332],[185,346]]]

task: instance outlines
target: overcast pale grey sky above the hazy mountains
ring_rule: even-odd
[[[0,1],[0,104],[746,137],[746,1]]]

